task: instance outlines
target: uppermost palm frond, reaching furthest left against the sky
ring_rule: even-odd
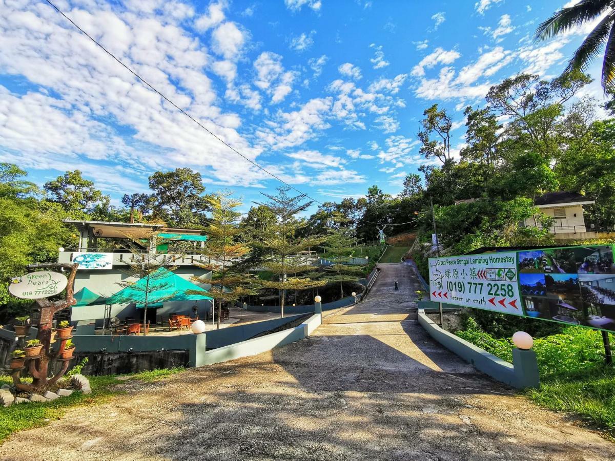
[[[574,6],[562,8],[538,26],[534,40],[550,39],[600,16],[609,8],[612,8],[610,0],[582,0]]]

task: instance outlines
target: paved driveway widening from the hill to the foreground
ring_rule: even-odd
[[[381,267],[365,302],[313,336],[127,382],[110,403],[13,436],[0,459],[615,459],[615,444],[435,344],[416,322],[411,268]]]

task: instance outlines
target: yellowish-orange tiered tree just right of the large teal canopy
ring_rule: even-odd
[[[232,199],[231,192],[218,192],[212,197],[208,197],[212,218],[205,227],[207,242],[205,243],[202,254],[207,256],[207,264],[197,264],[205,270],[212,272],[212,278],[195,277],[194,280],[200,283],[211,283],[212,288],[205,292],[207,296],[213,297],[218,304],[218,325],[222,312],[222,302],[234,302],[242,296],[253,293],[252,275],[246,274],[241,269],[242,258],[250,251],[250,248],[237,239],[245,232],[245,228],[239,224],[241,213],[236,211],[241,202]],[[204,293],[194,291],[192,293]]]

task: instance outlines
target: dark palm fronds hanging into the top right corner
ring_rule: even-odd
[[[550,39],[595,20],[605,13],[605,17],[574,52],[565,73],[585,72],[606,45],[602,61],[602,87],[605,91],[609,91],[615,90],[615,2],[613,0],[581,0],[574,6],[562,8],[538,26],[534,39]]]

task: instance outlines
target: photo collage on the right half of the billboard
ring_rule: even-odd
[[[518,264],[525,315],[615,330],[613,246],[520,251]]]

